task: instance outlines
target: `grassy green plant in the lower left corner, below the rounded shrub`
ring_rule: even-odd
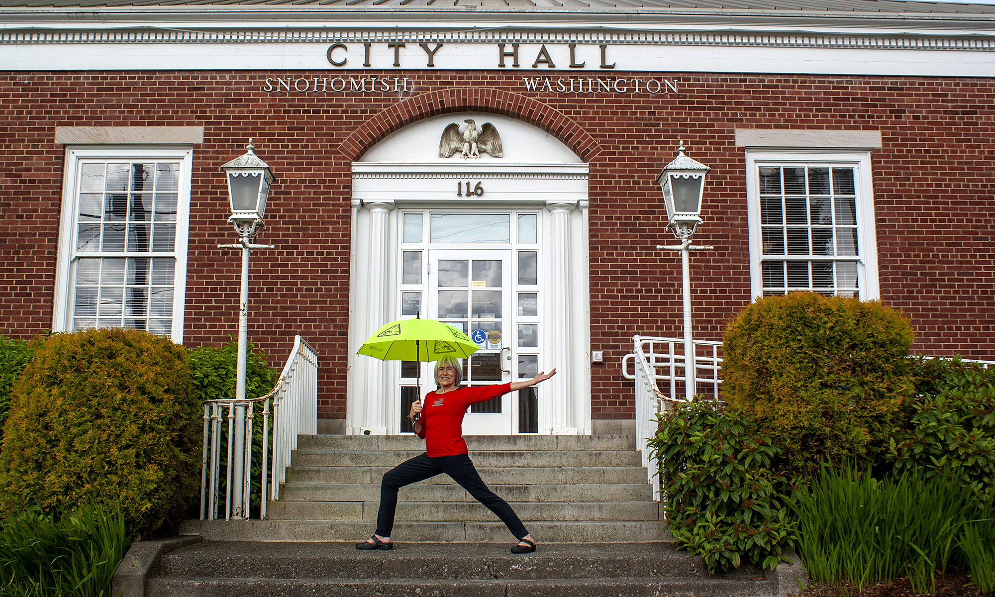
[[[58,519],[28,508],[0,529],[0,597],[107,597],[130,544],[99,505]]]

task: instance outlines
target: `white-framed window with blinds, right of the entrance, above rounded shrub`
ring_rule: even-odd
[[[879,298],[869,152],[746,152],[753,297]]]

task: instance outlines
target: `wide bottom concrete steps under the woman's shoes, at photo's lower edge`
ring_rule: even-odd
[[[711,577],[669,543],[542,543],[512,555],[500,544],[204,542],[162,556],[154,597],[362,595],[380,597],[768,597],[776,573],[745,565]]]

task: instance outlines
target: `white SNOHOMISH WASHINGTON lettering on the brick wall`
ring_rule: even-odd
[[[677,81],[666,79],[615,79],[611,77],[522,77],[522,91],[537,94],[677,94]],[[360,94],[413,93],[415,82],[406,77],[270,77],[267,93]]]

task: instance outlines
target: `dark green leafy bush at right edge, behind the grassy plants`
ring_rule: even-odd
[[[995,369],[919,359],[912,417],[889,443],[896,474],[923,470],[995,501]]]

